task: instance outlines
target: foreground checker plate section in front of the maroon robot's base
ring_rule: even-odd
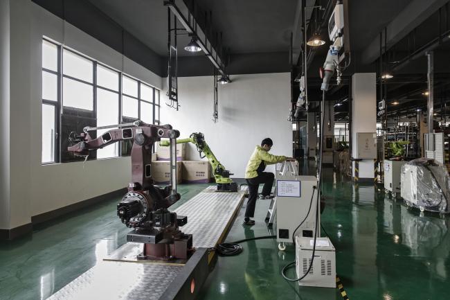
[[[183,267],[150,263],[98,263],[48,300],[157,300]]]

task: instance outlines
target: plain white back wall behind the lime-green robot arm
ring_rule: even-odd
[[[218,123],[213,123],[213,78],[201,76],[178,79],[179,112],[164,104],[167,98],[161,93],[161,124],[170,123],[181,137],[203,132],[217,159],[235,174],[232,177],[242,178],[255,145],[266,137],[273,139],[271,153],[292,156],[292,125],[287,121],[290,74],[239,75],[231,80],[219,86]],[[193,145],[187,155],[199,160]]]

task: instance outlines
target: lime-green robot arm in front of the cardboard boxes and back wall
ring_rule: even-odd
[[[230,178],[230,175],[233,175],[233,173],[230,173],[229,170],[225,169],[224,165],[220,164],[220,161],[215,157],[208,143],[206,143],[204,134],[194,132],[188,139],[177,139],[177,143],[193,143],[197,147],[200,158],[206,157],[208,159],[213,167],[213,175],[218,192],[237,192],[237,183]],[[159,145],[168,146],[170,143],[169,141],[160,141]]]

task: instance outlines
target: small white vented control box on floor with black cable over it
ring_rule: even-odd
[[[296,273],[298,278],[308,271],[314,238],[296,237]],[[336,288],[336,249],[329,238],[316,239],[314,261],[307,276],[298,285]]]

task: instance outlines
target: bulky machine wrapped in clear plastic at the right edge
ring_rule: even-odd
[[[434,159],[414,159],[402,167],[401,195],[420,211],[450,213],[450,176]]]

